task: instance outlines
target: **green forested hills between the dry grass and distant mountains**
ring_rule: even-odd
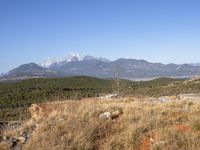
[[[68,77],[28,79],[0,83],[0,118],[17,120],[27,118],[26,108],[32,103],[53,100],[80,100],[117,93],[119,96],[160,97],[181,93],[199,93],[200,80],[159,78],[151,81]],[[14,110],[14,111],[13,111]],[[23,115],[21,115],[23,114]]]

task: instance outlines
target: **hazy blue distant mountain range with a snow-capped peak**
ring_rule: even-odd
[[[162,64],[145,60],[120,58],[110,61],[101,57],[70,53],[62,59],[47,58],[40,64],[21,65],[0,77],[0,80],[92,76],[99,78],[144,79],[154,77],[190,77],[200,75],[200,65]]]

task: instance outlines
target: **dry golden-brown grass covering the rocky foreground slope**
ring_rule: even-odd
[[[200,149],[199,102],[152,103],[129,98],[53,104],[48,116],[5,134],[17,136],[29,130],[29,140],[22,145],[25,150]],[[123,114],[115,120],[99,119],[101,113],[115,110]]]

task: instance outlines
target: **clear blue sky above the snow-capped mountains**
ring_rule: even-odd
[[[0,0],[0,72],[70,51],[200,62],[199,0]]]

